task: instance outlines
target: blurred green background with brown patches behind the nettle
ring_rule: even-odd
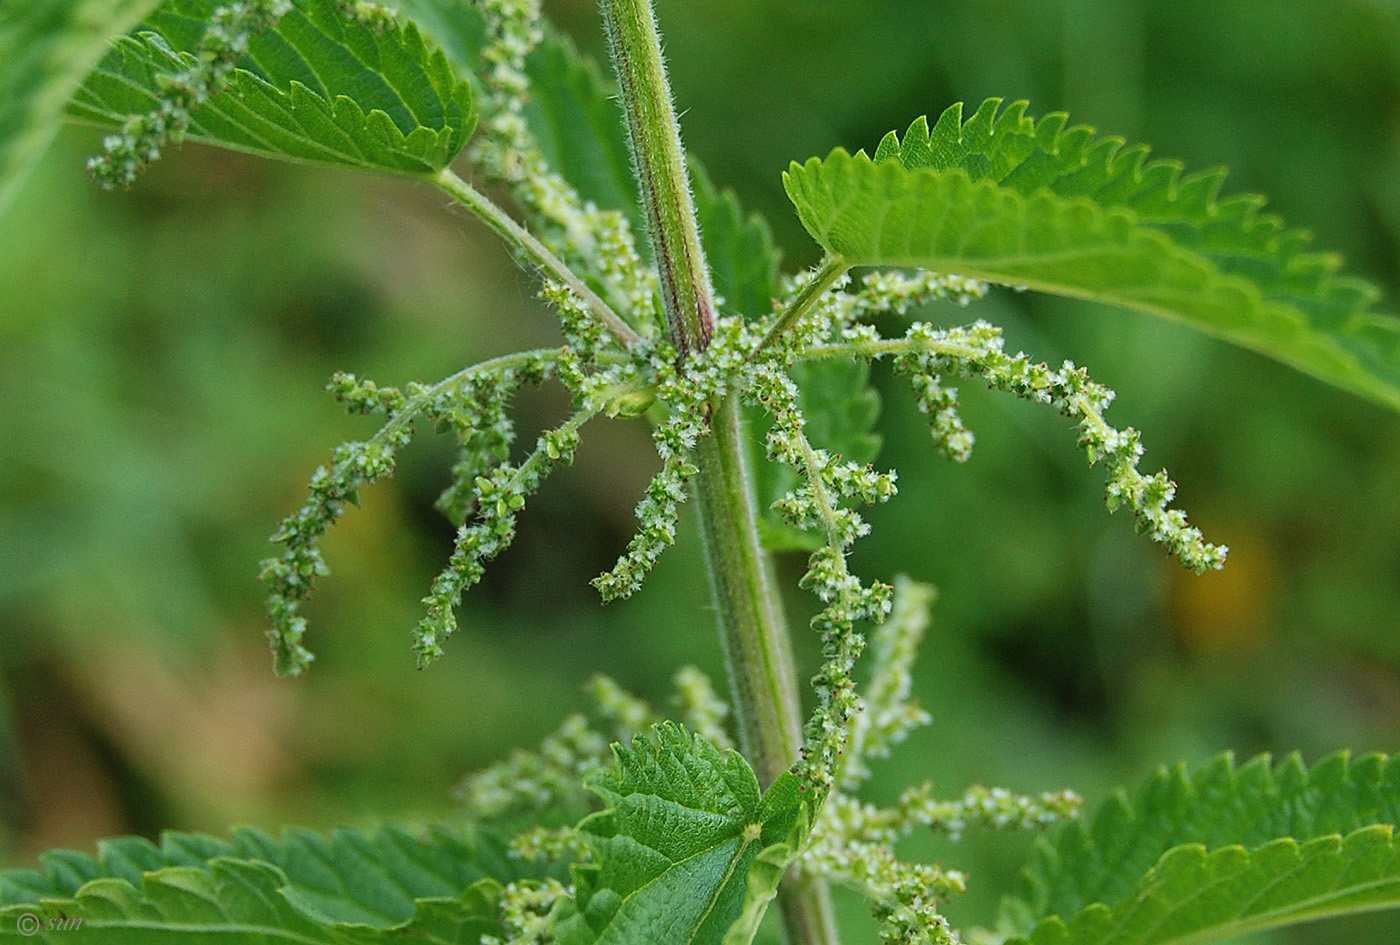
[[[599,50],[591,0],[545,6]],[[687,146],[770,217],[790,267],[815,259],[783,196],[790,160],[1000,95],[1228,165],[1228,190],[1267,193],[1400,311],[1394,0],[657,6]],[[416,672],[407,631],[451,540],[433,500],[452,449],[423,435],[328,542],[318,662],[274,679],[266,538],[332,447],[372,430],[321,392],[329,374],[433,381],[554,329],[494,237],[426,186],[186,146],[102,195],[81,171],[97,137],[66,132],[0,217],[6,864],[161,827],[442,816],[462,773],[536,742],[592,673],[659,704],[686,662],[722,676],[689,522],[633,601],[602,609],[588,587],[657,466],[631,421],[585,431],[448,658]],[[1144,431],[1144,468],[1172,472],[1232,557],[1194,578],[1137,539],[1043,409],[965,389],[979,447],[945,463],[907,385],[876,372],[900,496],[869,515],[855,566],[941,599],[918,669],[935,724],[871,797],[931,777],[949,795],[976,781],[1096,799],[1222,750],[1400,749],[1400,417],[1145,316],[1009,293],[928,312],[974,315],[1116,388],[1110,420]],[[522,435],[561,409],[557,391],[524,396]],[[783,561],[788,587],[799,573]],[[794,594],[791,610],[811,606]],[[909,853],[970,871],[949,909],[976,924],[1025,844]]]

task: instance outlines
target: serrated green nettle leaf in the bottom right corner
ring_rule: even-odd
[[[1296,757],[1236,767],[1225,756],[1194,776],[1163,770],[1131,799],[1105,802],[1092,823],[1037,843],[1002,924],[1029,934],[1042,923],[1036,945],[1210,941],[1400,904],[1397,822],[1396,759],[1336,755],[1308,770]],[[1152,924],[1204,937],[1109,937],[1110,925],[1140,928],[1154,910]],[[1057,938],[1064,927],[1072,934]]]

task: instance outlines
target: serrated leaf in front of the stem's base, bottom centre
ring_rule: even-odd
[[[560,945],[743,945],[809,830],[799,783],[766,794],[736,752],[666,722],[589,787],[608,809],[581,825],[594,861],[556,911]]]

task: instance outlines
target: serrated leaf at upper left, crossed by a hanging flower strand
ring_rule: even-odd
[[[70,115],[119,126],[158,104],[160,77],[192,52],[217,0],[174,0],[118,42],[74,97]],[[265,157],[427,176],[462,150],[476,123],[468,84],[417,27],[384,32],[332,0],[295,0],[255,35],[228,88],[192,116],[190,140]]]

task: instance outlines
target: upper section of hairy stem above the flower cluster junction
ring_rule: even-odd
[[[651,0],[602,0],[602,13],[647,232],[657,253],[661,304],[671,340],[685,357],[710,343],[714,290],[700,244],[680,125],[661,57],[661,35]]]

